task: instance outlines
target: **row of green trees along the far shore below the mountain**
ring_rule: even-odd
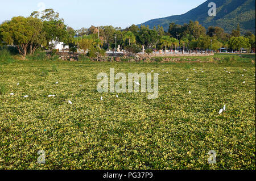
[[[69,50],[77,52],[84,50],[88,56],[98,57],[105,50],[113,50],[117,45],[132,53],[141,52],[142,45],[148,54],[152,50],[170,49],[177,47],[189,50],[218,50],[222,47],[241,50],[250,48],[255,50],[255,35],[246,32],[241,35],[240,25],[232,33],[226,33],[220,27],[205,27],[199,22],[183,25],[170,23],[169,30],[163,27],[149,27],[134,24],[122,28],[100,26],[74,30],[64,23],[59,13],[53,9],[43,12],[34,11],[27,18],[13,17],[0,25],[0,43],[14,45],[23,56],[34,54],[38,48],[53,50],[56,44],[64,42]]]

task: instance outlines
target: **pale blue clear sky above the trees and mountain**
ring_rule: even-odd
[[[150,19],[183,14],[206,0],[8,0],[0,2],[0,23],[32,11],[54,9],[75,30],[91,25],[126,28]]]

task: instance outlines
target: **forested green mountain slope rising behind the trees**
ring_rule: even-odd
[[[216,3],[216,16],[208,15],[210,2]],[[152,19],[142,24],[151,29],[160,25],[163,26],[164,31],[168,31],[170,23],[182,25],[189,23],[189,20],[197,20],[205,28],[218,26],[229,33],[240,23],[242,33],[246,31],[255,33],[255,0],[208,0],[185,14]]]

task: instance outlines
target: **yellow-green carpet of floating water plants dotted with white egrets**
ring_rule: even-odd
[[[0,95],[0,169],[255,169],[250,60],[55,61],[58,71],[43,76],[40,71],[52,70],[52,61],[3,65],[0,82],[9,91]],[[159,98],[98,93],[96,76],[110,68],[160,73]],[[218,115],[224,104],[227,110]],[[37,163],[38,150],[46,151],[45,165]],[[217,153],[216,165],[208,164],[209,150]]]

